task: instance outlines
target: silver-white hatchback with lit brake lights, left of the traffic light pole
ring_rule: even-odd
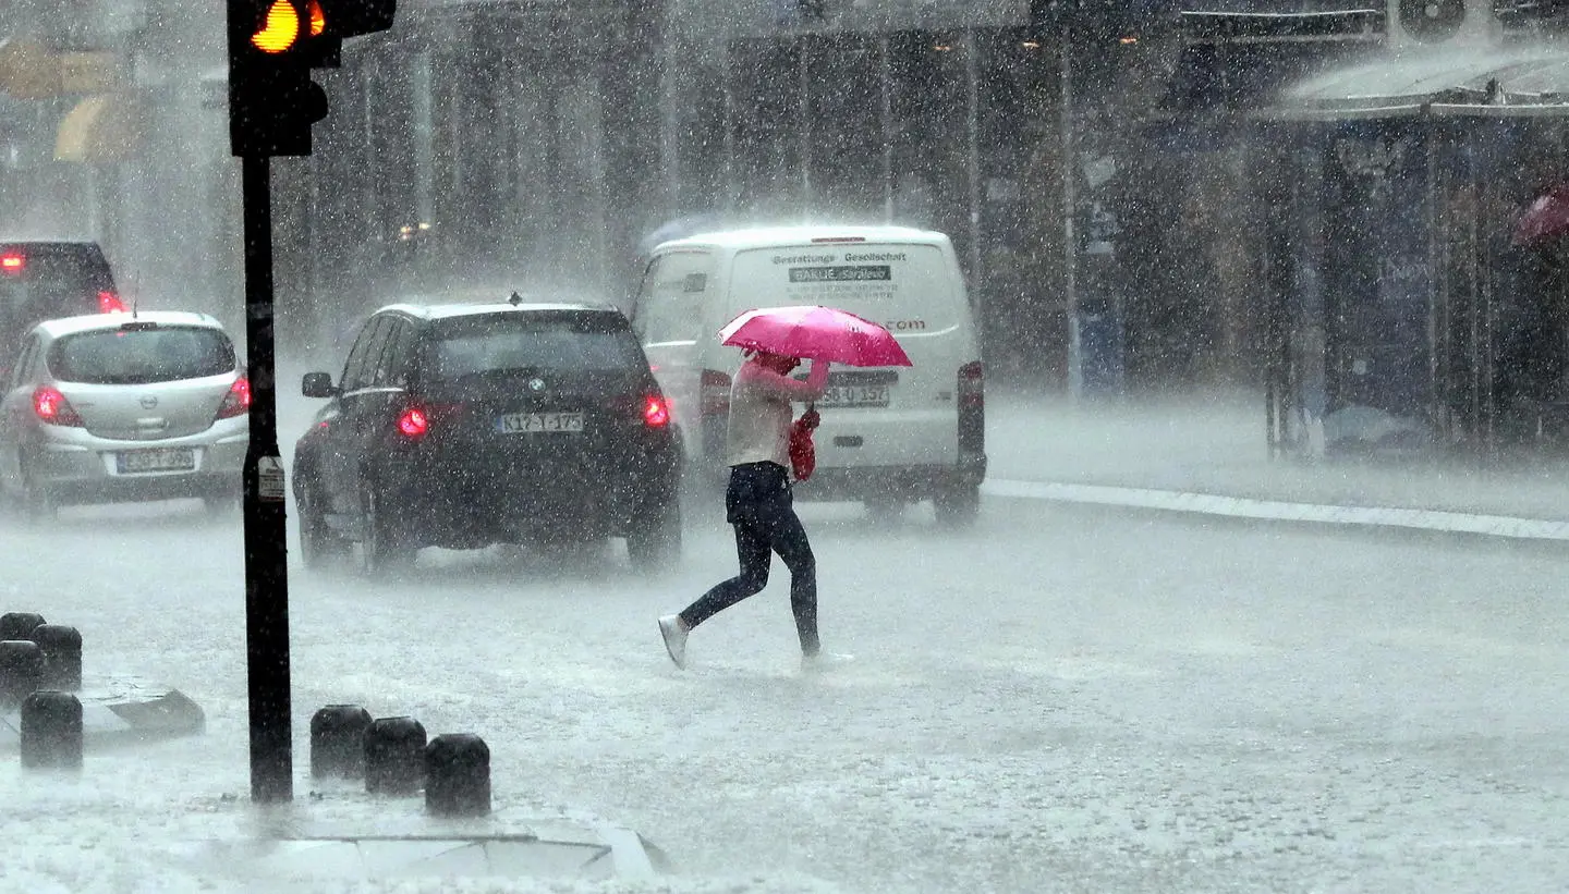
[[[251,383],[206,314],[47,320],[0,398],[0,494],[30,516],[64,503],[238,502]]]

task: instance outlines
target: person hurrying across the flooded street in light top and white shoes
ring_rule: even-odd
[[[795,516],[791,492],[789,433],[792,402],[822,397],[828,361],[813,361],[806,381],[791,378],[799,358],[748,351],[730,389],[730,425],[725,458],[730,486],[725,489],[725,521],[736,529],[741,574],[714,585],[676,615],[659,618],[665,651],[686,668],[687,634],[719,612],[763,591],[769,582],[772,552],[789,568],[789,605],[795,615],[803,667],[822,660],[817,640],[817,560],[806,529]],[[814,411],[811,411],[814,412]]]

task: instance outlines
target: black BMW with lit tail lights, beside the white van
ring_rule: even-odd
[[[624,536],[681,551],[681,439],[615,307],[392,304],[370,315],[295,445],[308,568],[351,552],[381,574],[425,546]]]

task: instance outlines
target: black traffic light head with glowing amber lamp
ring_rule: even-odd
[[[392,27],[397,0],[229,0],[229,144],[235,155],[309,155],[326,118],[312,67],[344,38]]]

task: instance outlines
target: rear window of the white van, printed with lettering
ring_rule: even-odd
[[[745,307],[825,304],[893,333],[937,331],[960,322],[954,281],[934,245],[844,243],[748,249],[736,254],[733,292]]]

